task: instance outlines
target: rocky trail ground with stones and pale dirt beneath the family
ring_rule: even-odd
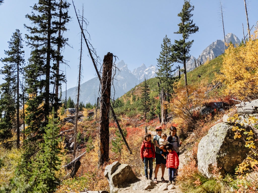
[[[179,169],[182,168],[183,164],[185,163],[185,154],[182,153],[179,155]],[[155,162],[154,162],[155,163]],[[155,164],[153,165],[153,169],[155,168]],[[131,184],[128,185],[127,187],[124,188],[120,188],[118,190],[118,193],[143,193],[143,192],[151,192],[151,193],[182,193],[182,191],[180,190],[180,188],[178,187],[178,185],[176,185],[176,183],[174,185],[169,185],[167,186],[168,183],[168,170],[165,169],[165,173],[164,173],[164,178],[166,180],[165,183],[161,182],[161,168],[159,168],[158,171],[158,175],[157,175],[157,181],[158,184],[154,185],[153,181],[150,180],[146,180],[145,176],[143,175],[142,177],[140,177],[139,181],[137,182],[137,184]],[[153,175],[152,175],[152,179],[154,179],[154,170],[153,170]],[[145,190],[144,187],[147,187],[147,185],[149,185],[148,187],[150,189]]]

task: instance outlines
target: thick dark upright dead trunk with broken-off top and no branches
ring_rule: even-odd
[[[103,59],[100,98],[100,130],[98,168],[109,159],[109,109],[112,78],[113,54],[108,52]]]

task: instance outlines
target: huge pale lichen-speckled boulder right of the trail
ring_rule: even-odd
[[[218,123],[199,142],[198,169],[206,177],[213,177],[215,168],[222,176],[226,172],[234,172],[236,166],[246,158],[249,149],[242,139],[234,139],[234,132],[232,125]]]

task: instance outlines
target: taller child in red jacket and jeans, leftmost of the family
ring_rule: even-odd
[[[142,142],[141,146],[141,158],[144,163],[144,172],[145,172],[145,178],[148,180],[148,162],[149,162],[149,168],[150,168],[150,177],[152,177],[152,164],[155,159],[155,148],[154,145],[151,143],[151,134],[147,133],[144,136],[144,141]]]

